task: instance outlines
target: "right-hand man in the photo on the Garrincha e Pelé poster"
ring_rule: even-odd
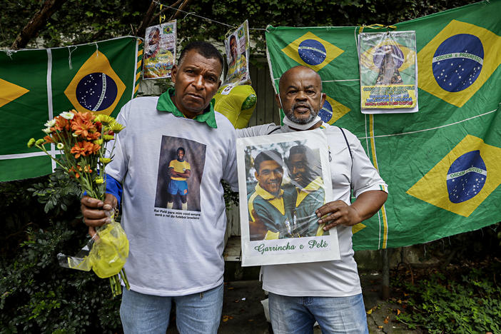
[[[323,236],[315,209],[325,204],[320,156],[305,145],[290,148],[286,161],[293,191],[293,223],[298,236]],[[312,208],[314,208],[312,210]]]

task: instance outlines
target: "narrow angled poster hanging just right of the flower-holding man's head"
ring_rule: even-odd
[[[249,26],[246,20],[234,31],[228,31],[224,41],[228,73],[223,85],[250,85],[249,74]]]

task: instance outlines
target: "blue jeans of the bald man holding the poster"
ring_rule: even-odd
[[[368,334],[362,294],[349,297],[289,297],[268,294],[274,334],[313,333],[315,320],[323,334]]]

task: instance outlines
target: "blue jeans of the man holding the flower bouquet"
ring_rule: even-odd
[[[124,334],[165,334],[176,303],[176,325],[179,333],[218,332],[223,308],[223,284],[203,293],[160,297],[123,289],[120,319]]]

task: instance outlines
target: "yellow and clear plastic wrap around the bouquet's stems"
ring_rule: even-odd
[[[99,278],[116,275],[128,258],[128,239],[119,223],[111,221],[101,228],[75,256],[59,253],[59,265],[65,268],[89,271]]]

